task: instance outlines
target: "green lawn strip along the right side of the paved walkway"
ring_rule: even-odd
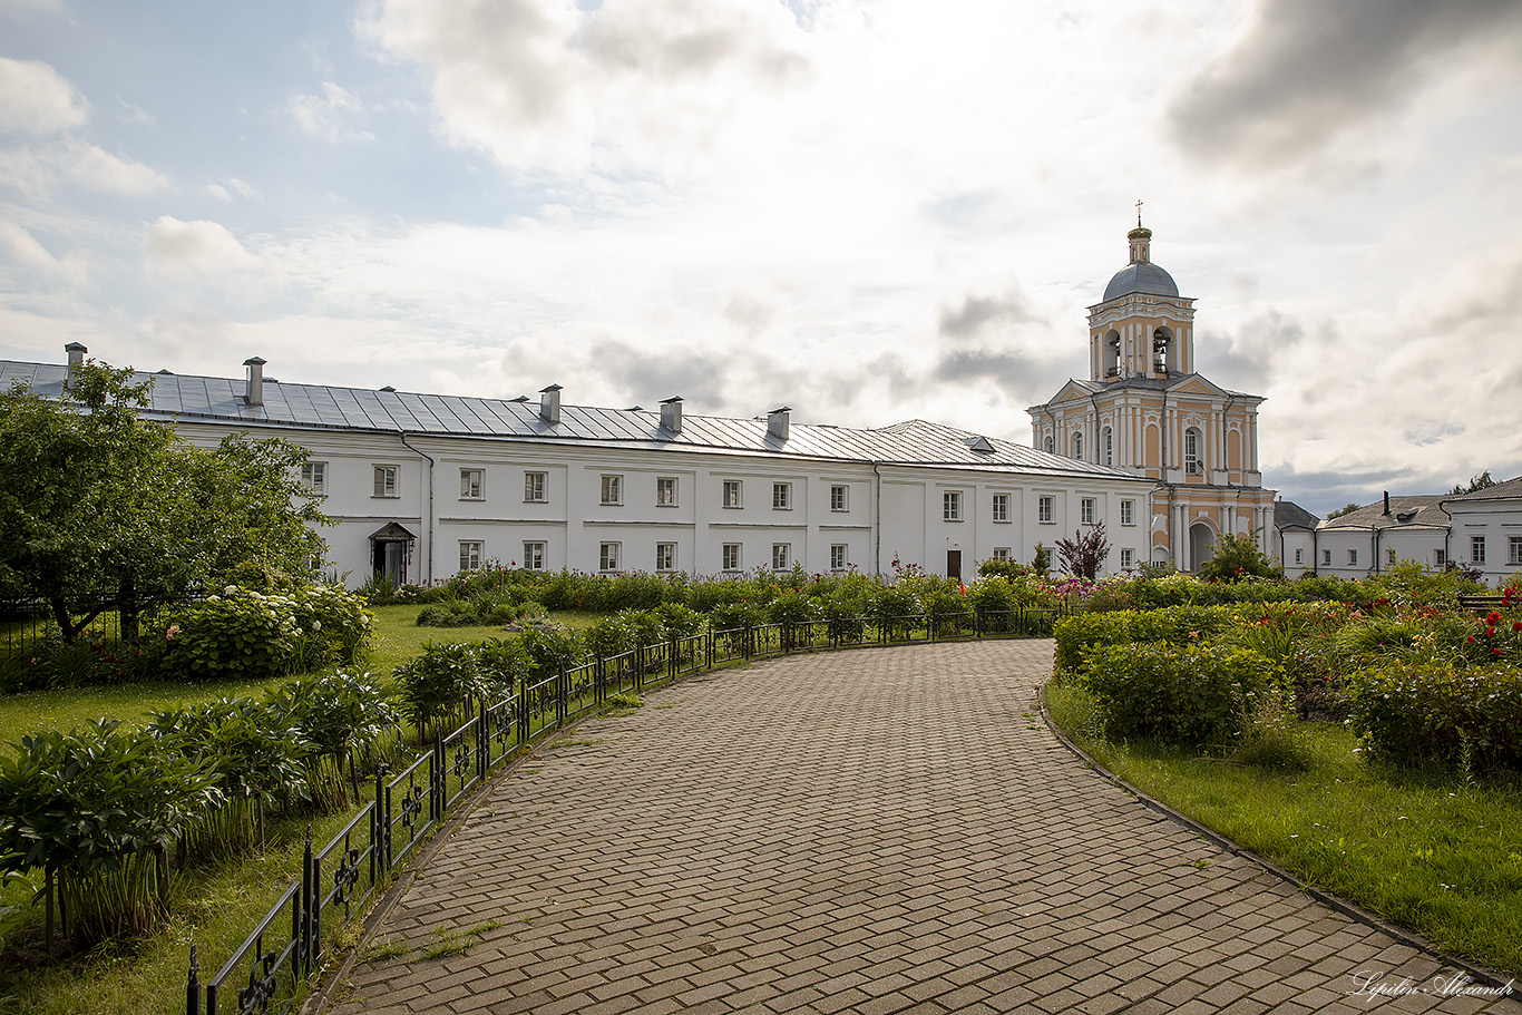
[[[1148,796],[1502,978],[1522,974],[1522,782],[1376,767],[1323,723],[1295,730],[1300,772],[1113,744],[1082,688],[1046,697],[1058,727]]]

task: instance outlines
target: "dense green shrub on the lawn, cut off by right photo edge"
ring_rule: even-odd
[[[1370,753],[1473,775],[1522,772],[1522,671],[1388,665],[1348,680],[1352,726]]]

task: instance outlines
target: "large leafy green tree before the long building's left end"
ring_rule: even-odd
[[[192,447],[139,415],[149,387],[90,361],[64,399],[0,393],[0,595],[47,601],[68,642],[105,610],[131,638],[149,606],[303,574],[323,551],[303,449],[242,434]]]

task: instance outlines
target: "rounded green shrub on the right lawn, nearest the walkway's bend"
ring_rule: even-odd
[[[1253,720],[1272,667],[1245,648],[1142,642],[1094,647],[1082,676],[1110,738],[1225,747]]]

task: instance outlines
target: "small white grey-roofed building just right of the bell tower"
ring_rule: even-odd
[[[1444,498],[1390,496],[1329,517],[1315,531],[1315,572],[1367,578],[1403,560],[1447,566]]]

